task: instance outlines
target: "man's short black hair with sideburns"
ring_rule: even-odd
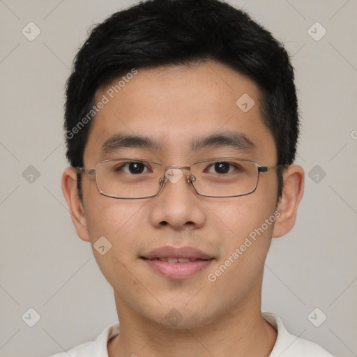
[[[289,55],[245,11],[220,0],[141,1],[92,29],[66,84],[64,128],[70,165],[83,165],[98,89],[133,68],[209,60],[257,83],[261,114],[275,140],[278,165],[290,165],[296,155],[299,119]],[[282,170],[278,170],[278,197],[281,190]]]

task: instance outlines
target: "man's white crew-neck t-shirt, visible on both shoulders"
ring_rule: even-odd
[[[263,317],[278,331],[277,340],[269,357],[333,357],[318,344],[290,335],[280,317],[267,312],[263,313]],[[119,324],[105,328],[95,341],[79,344],[68,352],[50,357],[68,357],[68,354],[71,357],[108,357],[107,342],[116,335],[119,335]]]

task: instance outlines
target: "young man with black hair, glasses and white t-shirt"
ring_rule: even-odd
[[[120,321],[70,356],[331,356],[261,314],[304,181],[271,33],[218,0],[139,3],[93,29],[66,95],[63,194]]]

